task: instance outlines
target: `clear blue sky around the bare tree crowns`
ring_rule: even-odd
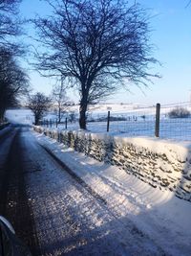
[[[135,0],[129,1],[134,3]],[[172,104],[190,101],[191,95],[191,5],[189,0],[137,0],[152,16],[150,42],[155,45],[154,57],[161,66],[155,66],[153,72],[159,73],[161,79],[143,88],[141,92],[136,86],[131,92],[120,91],[108,99],[115,103],[139,103],[153,105],[156,103]],[[34,17],[35,13],[46,15],[50,8],[40,0],[23,0],[20,12],[23,17]],[[26,27],[32,35],[32,28]],[[30,42],[30,39],[28,39]],[[31,84],[35,91],[49,94],[53,81],[40,77],[37,72],[30,71]],[[77,101],[77,93],[72,93]]]

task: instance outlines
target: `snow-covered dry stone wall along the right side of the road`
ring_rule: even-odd
[[[188,143],[34,129],[98,161],[117,165],[155,188],[173,191],[177,197],[191,201],[191,145]]]

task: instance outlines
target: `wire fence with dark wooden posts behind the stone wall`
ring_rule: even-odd
[[[56,119],[43,120],[46,127],[78,129],[78,116],[66,116],[61,124]],[[87,129],[92,132],[109,132],[119,136],[150,136],[167,139],[191,140],[191,104],[134,107],[118,111],[90,111]]]

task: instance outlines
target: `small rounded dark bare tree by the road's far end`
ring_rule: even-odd
[[[37,92],[29,98],[29,108],[34,113],[34,125],[38,125],[44,112],[51,106],[51,99],[43,93]]]

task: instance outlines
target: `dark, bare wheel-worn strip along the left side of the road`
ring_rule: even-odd
[[[40,255],[32,205],[27,195],[20,133],[21,128],[15,131],[2,168],[0,214],[11,221],[17,236],[31,248],[33,255]]]

